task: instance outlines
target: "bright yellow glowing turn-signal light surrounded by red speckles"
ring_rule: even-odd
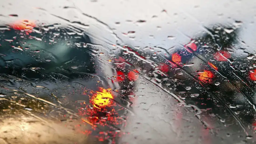
[[[96,91],[96,94],[93,95],[91,102],[94,107],[101,108],[106,106],[111,106],[113,96],[106,89],[101,88],[102,92]]]

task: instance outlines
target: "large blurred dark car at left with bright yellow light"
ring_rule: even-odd
[[[57,131],[62,125],[73,127],[63,129],[63,133],[54,132],[67,143],[118,141],[127,111],[131,111],[137,74],[121,71],[117,65],[111,83],[119,88],[113,89],[103,77],[104,70],[97,57],[102,54],[91,46],[85,33],[78,33],[72,27],[36,26],[25,20],[2,29],[1,100],[5,101],[1,101],[4,122],[1,125],[5,125],[6,142],[22,143],[21,137],[9,136],[12,128],[8,129],[5,121],[23,113],[45,119]],[[23,117],[20,116],[20,121],[26,121]],[[38,133],[42,140],[23,143],[63,142],[53,138],[47,141],[51,132],[39,132],[31,127],[27,128],[28,133]],[[75,133],[82,136],[77,138]]]

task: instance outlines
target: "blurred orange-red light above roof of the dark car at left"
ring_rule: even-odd
[[[28,20],[22,20],[15,22],[11,27],[15,30],[27,30],[26,32],[31,33],[32,29],[35,27],[35,23]]]

